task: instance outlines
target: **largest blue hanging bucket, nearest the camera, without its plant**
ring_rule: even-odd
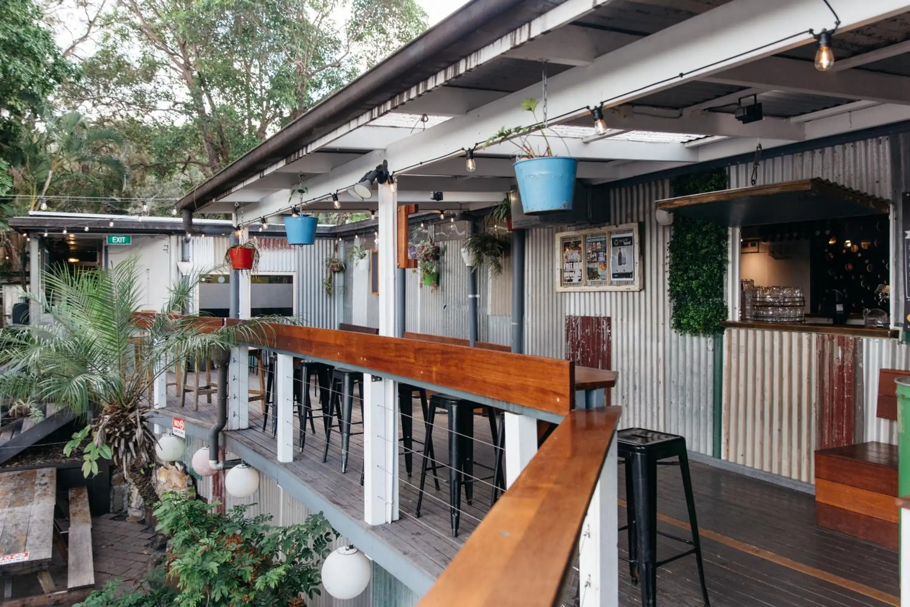
[[[515,163],[515,178],[525,215],[571,211],[578,160],[561,156],[528,158]]]

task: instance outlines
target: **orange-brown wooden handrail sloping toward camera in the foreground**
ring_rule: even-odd
[[[572,411],[480,521],[419,607],[554,605],[620,411]]]

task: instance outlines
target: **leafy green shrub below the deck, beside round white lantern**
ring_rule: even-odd
[[[319,594],[319,563],[338,537],[325,517],[274,527],[269,514],[247,518],[248,506],[221,514],[216,505],[173,491],[161,496],[157,529],[170,538],[165,572],[178,592],[162,588],[158,574],[146,590],[117,596],[110,584],[77,607],[302,607],[301,593]]]

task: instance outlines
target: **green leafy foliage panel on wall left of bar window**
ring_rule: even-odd
[[[673,196],[688,196],[726,189],[723,169],[676,177]],[[728,229],[710,221],[673,218],[669,248],[669,290],[672,328],[689,335],[723,333],[727,319],[723,296],[727,270]]]

